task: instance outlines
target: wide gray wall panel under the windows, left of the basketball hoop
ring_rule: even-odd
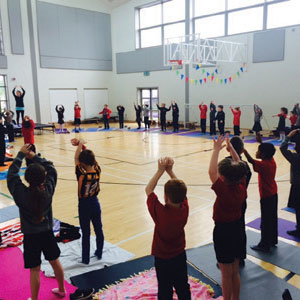
[[[116,54],[117,73],[168,70],[163,65],[163,47],[144,48]]]

